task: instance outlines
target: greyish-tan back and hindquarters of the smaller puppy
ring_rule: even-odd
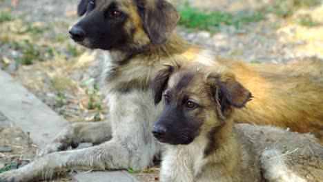
[[[311,134],[287,132],[270,126],[237,124],[239,142],[267,181],[320,181],[323,146]]]

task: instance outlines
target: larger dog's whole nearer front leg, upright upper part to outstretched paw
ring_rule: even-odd
[[[48,178],[60,168],[147,168],[159,152],[159,145],[153,139],[150,130],[161,108],[155,107],[151,97],[150,92],[133,92],[110,97],[110,141],[91,148],[47,154],[23,168],[0,174],[0,181],[32,181],[41,176]]]

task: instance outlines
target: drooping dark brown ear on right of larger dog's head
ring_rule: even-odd
[[[157,45],[165,43],[180,19],[177,10],[165,0],[146,1],[146,5],[141,1],[138,8],[150,40]]]

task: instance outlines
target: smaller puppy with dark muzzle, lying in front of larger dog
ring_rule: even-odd
[[[155,77],[153,92],[155,104],[164,96],[152,129],[165,143],[161,181],[323,179],[323,147],[313,136],[233,124],[235,110],[253,98],[233,74],[196,64],[168,65]]]

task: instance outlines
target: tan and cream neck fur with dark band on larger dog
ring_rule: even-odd
[[[142,51],[140,51],[140,49]],[[162,64],[174,65],[188,50],[199,49],[176,32],[162,45],[146,45],[133,51],[110,50],[104,61],[101,80],[106,92],[148,90],[156,68]],[[119,77],[122,75],[122,77]]]

